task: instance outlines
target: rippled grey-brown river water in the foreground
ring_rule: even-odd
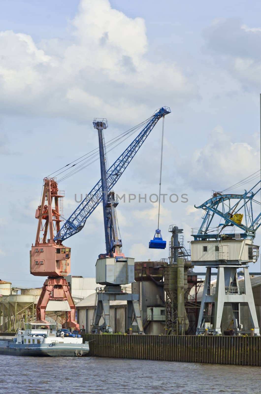
[[[5,394],[217,394],[261,392],[261,369],[248,366],[0,355]]]

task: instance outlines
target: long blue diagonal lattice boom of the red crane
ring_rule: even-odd
[[[107,174],[107,186],[108,191],[112,190],[117,180],[121,177],[135,154],[138,152],[145,139],[149,136],[151,130],[157,124],[159,119],[170,113],[169,107],[162,107],[155,111],[155,113],[149,118],[148,123],[138,134],[138,136],[132,141],[132,143],[125,149],[125,151],[117,158],[114,164],[106,172]],[[97,208],[99,203],[103,199],[102,181],[101,179],[88,193],[86,198],[80,203],[76,210],[71,214],[62,226],[61,230],[54,237],[54,241],[66,240],[73,236],[82,228],[91,213]]]

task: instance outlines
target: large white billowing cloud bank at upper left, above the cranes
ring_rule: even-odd
[[[39,44],[0,32],[3,113],[86,121],[102,110],[129,124],[166,101],[179,105],[196,95],[177,63],[148,60],[144,19],[127,17],[108,0],[82,0],[71,26],[70,41]]]

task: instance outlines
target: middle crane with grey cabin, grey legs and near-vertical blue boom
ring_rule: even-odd
[[[97,294],[97,305],[93,316],[93,332],[101,330],[112,333],[110,325],[110,301],[127,301],[127,330],[135,321],[138,332],[143,333],[138,294],[127,294],[121,285],[134,282],[134,258],[125,257],[121,251],[122,243],[118,238],[114,191],[108,191],[106,175],[106,156],[103,130],[108,128],[106,119],[94,119],[93,126],[98,131],[101,164],[101,184],[103,191],[103,217],[106,253],[100,254],[96,262],[96,282],[105,285],[104,291]],[[101,318],[103,323],[100,323]]]

